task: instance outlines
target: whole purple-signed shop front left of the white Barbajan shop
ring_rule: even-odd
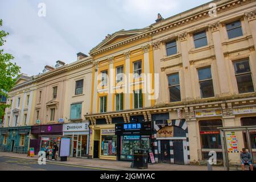
[[[31,127],[30,147],[35,149],[35,155],[46,146],[60,142],[63,135],[63,124],[38,125]]]

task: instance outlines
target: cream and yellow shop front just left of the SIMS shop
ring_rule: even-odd
[[[95,125],[90,129],[89,158],[117,160],[115,125]]]

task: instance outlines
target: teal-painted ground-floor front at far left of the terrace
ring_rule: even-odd
[[[0,151],[26,154],[31,127],[7,127],[1,130]]]

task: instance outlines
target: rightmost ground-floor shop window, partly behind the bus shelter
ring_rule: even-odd
[[[242,126],[255,126],[256,125],[256,117],[248,117],[241,118]],[[251,148],[256,149],[256,131],[250,131],[250,140],[251,140]],[[248,148],[246,133],[243,132],[243,141],[245,143],[245,148]]]

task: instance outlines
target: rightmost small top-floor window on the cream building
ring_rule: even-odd
[[[228,32],[229,39],[243,36],[241,21],[238,20],[236,22],[226,24],[226,31]]]

